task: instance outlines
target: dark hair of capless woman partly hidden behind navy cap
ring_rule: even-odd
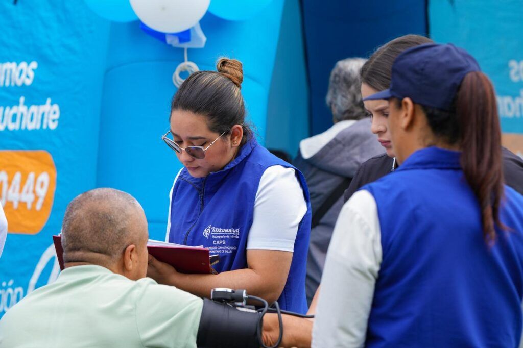
[[[407,49],[432,42],[434,41],[427,37],[408,34],[385,43],[361,67],[361,83],[365,83],[378,91],[389,88],[392,64],[396,57]]]

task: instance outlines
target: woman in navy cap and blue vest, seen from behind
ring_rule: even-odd
[[[503,184],[493,86],[467,52],[400,54],[388,126],[400,167],[344,205],[313,346],[518,346],[523,196]]]

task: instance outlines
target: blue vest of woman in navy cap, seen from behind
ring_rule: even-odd
[[[505,186],[501,220],[511,230],[497,229],[488,247],[459,152],[418,150],[362,189],[378,206],[383,253],[366,345],[518,346],[523,197]]]

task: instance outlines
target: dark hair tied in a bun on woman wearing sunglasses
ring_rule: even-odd
[[[173,96],[170,112],[185,110],[203,115],[209,129],[220,134],[227,134],[233,125],[241,124],[243,145],[252,136],[252,130],[245,124],[245,105],[240,91],[243,82],[242,63],[221,58],[216,69],[192,73]]]

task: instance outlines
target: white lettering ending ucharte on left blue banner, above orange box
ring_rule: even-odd
[[[38,63],[0,63],[0,87],[30,86],[35,80]],[[47,98],[41,105],[25,105],[21,96],[18,105],[0,106],[0,132],[19,130],[55,130],[60,119],[60,106]]]

